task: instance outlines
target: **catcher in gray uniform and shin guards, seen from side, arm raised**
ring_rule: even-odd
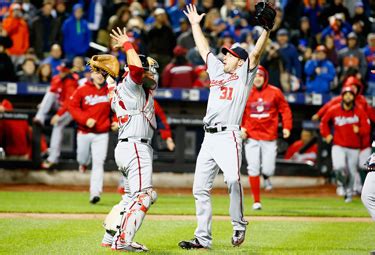
[[[102,246],[112,250],[147,251],[146,246],[133,242],[147,210],[156,201],[152,189],[153,150],[151,138],[156,129],[153,92],[157,87],[157,62],[138,56],[126,30],[112,30],[115,47],[123,47],[129,71],[117,86],[109,79],[111,107],[119,123],[116,164],[125,177],[126,194],[108,214]]]

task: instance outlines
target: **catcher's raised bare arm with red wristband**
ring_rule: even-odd
[[[126,62],[128,66],[137,66],[142,68],[141,59],[138,56],[138,53],[133,48],[132,43],[129,41],[129,37],[126,35],[126,28],[121,29],[117,27],[116,29],[112,29],[112,33],[110,34],[115,44],[113,45],[114,48],[121,48],[123,47],[126,53]]]

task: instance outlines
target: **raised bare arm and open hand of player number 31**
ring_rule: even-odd
[[[191,24],[191,30],[193,31],[195,45],[198,48],[199,54],[206,62],[207,54],[210,52],[210,46],[206,37],[204,37],[203,35],[202,28],[199,25],[202,18],[206,14],[202,13],[201,15],[199,15],[197,12],[197,8],[193,4],[186,5],[186,11],[184,10],[184,14],[186,15],[186,17],[188,17]]]

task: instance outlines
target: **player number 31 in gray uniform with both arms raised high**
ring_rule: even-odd
[[[268,8],[268,5],[263,2],[262,4]],[[232,245],[239,246],[245,240],[248,224],[243,218],[243,190],[240,181],[242,157],[240,124],[259,58],[269,37],[268,31],[273,26],[274,16],[270,19],[270,24],[263,24],[266,29],[250,54],[238,44],[234,44],[231,48],[222,49],[224,55],[222,62],[210,52],[199,25],[205,14],[199,15],[192,4],[187,6],[184,13],[191,24],[199,54],[206,62],[211,84],[206,116],[203,119],[205,137],[197,158],[193,185],[198,226],[193,239],[181,241],[178,245],[183,249],[211,247],[210,191],[215,176],[221,169],[230,197]]]

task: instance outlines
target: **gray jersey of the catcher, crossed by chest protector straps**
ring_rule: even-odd
[[[129,73],[117,85],[111,106],[118,118],[119,139],[152,138],[156,129],[153,91],[146,93]]]

